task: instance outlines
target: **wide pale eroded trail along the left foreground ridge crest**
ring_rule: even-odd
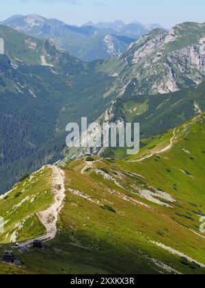
[[[40,237],[38,239],[53,239],[55,238],[57,232],[57,219],[59,211],[63,206],[64,198],[66,196],[65,186],[64,186],[64,178],[65,174],[64,171],[61,170],[57,166],[50,166],[53,171],[53,183],[52,183],[52,190],[55,196],[55,202],[52,206],[50,206],[46,211],[42,211],[38,213],[38,217],[42,224],[46,228],[46,235]]]

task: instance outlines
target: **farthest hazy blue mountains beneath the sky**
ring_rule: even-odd
[[[138,33],[133,27],[135,36],[129,37],[126,33],[115,33],[114,29],[99,29],[92,25],[71,26],[57,19],[45,19],[38,15],[12,16],[3,21],[3,25],[42,40],[55,40],[59,47],[87,62],[108,59],[126,51],[133,41],[148,32],[143,29],[143,32]]]

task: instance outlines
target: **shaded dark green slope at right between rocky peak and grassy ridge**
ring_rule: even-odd
[[[205,111],[205,82],[174,93],[135,95],[127,88],[107,110],[110,121],[140,123],[141,139],[163,133]]]

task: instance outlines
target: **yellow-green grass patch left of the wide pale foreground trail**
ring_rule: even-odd
[[[25,178],[5,197],[0,198],[1,217],[5,221],[0,243],[21,241],[44,235],[45,228],[36,213],[54,202],[51,192],[51,169],[46,168]],[[17,232],[16,237],[12,235]]]

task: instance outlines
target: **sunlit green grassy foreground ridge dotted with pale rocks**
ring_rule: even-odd
[[[204,123],[204,114],[195,117],[128,160],[85,158],[61,167],[66,195],[55,239],[46,250],[20,254],[20,269],[0,263],[1,273],[204,274]],[[2,215],[1,243],[45,235],[36,205],[53,203],[49,181],[52,187],[51,167],[44,167],[1,197],[10,212]],[[36,225],[29,235],[30,217]]]

